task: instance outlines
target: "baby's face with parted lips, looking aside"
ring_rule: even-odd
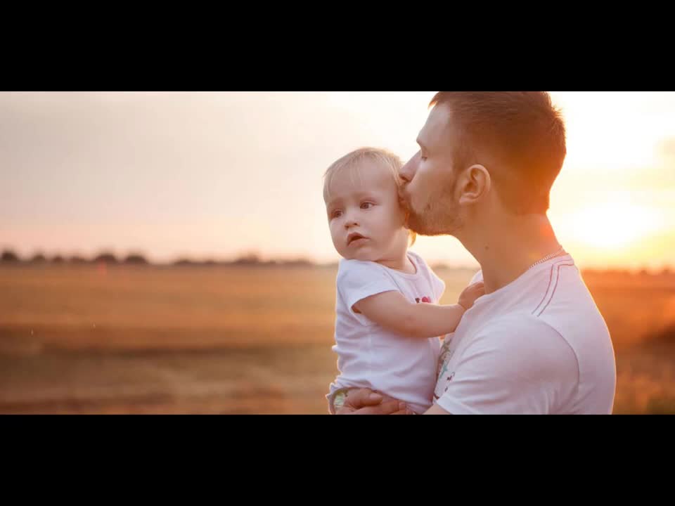
[[[345,259],[379,261],[405,254],[408,230],[387,167],[366,161],[333,176],[326,198],[330,235]]]

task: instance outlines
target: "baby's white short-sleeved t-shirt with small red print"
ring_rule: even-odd
[[[340,261],[333,346],[340,374],[328,396],[338,388],[365,387],[408,403],[416,413],[432,405],[440,339],[397,334],[352,309],[361,299],[392,290],[413,303],[438,304],[445,283],[418,254],[409,251],[408,257],[414,274],[372,261]]]

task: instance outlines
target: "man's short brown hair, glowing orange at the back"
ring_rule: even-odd
[[[545,213],[567,148],[565,122],[545,91],[439,91],[430,107],[447,104],[457,138],[454,167],[482,163],[505,207]]]

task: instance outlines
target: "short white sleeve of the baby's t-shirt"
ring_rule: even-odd
[[[375,262],[345,260],[338,271],[338,291],[349,309],[361,299],[399,291],[394,280]]]

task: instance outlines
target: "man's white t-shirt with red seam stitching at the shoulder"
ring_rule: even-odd
[[[611,414],[615,387],[607,325],[565,254],[464,313],[444,339],[434,402],[452,414]]]

